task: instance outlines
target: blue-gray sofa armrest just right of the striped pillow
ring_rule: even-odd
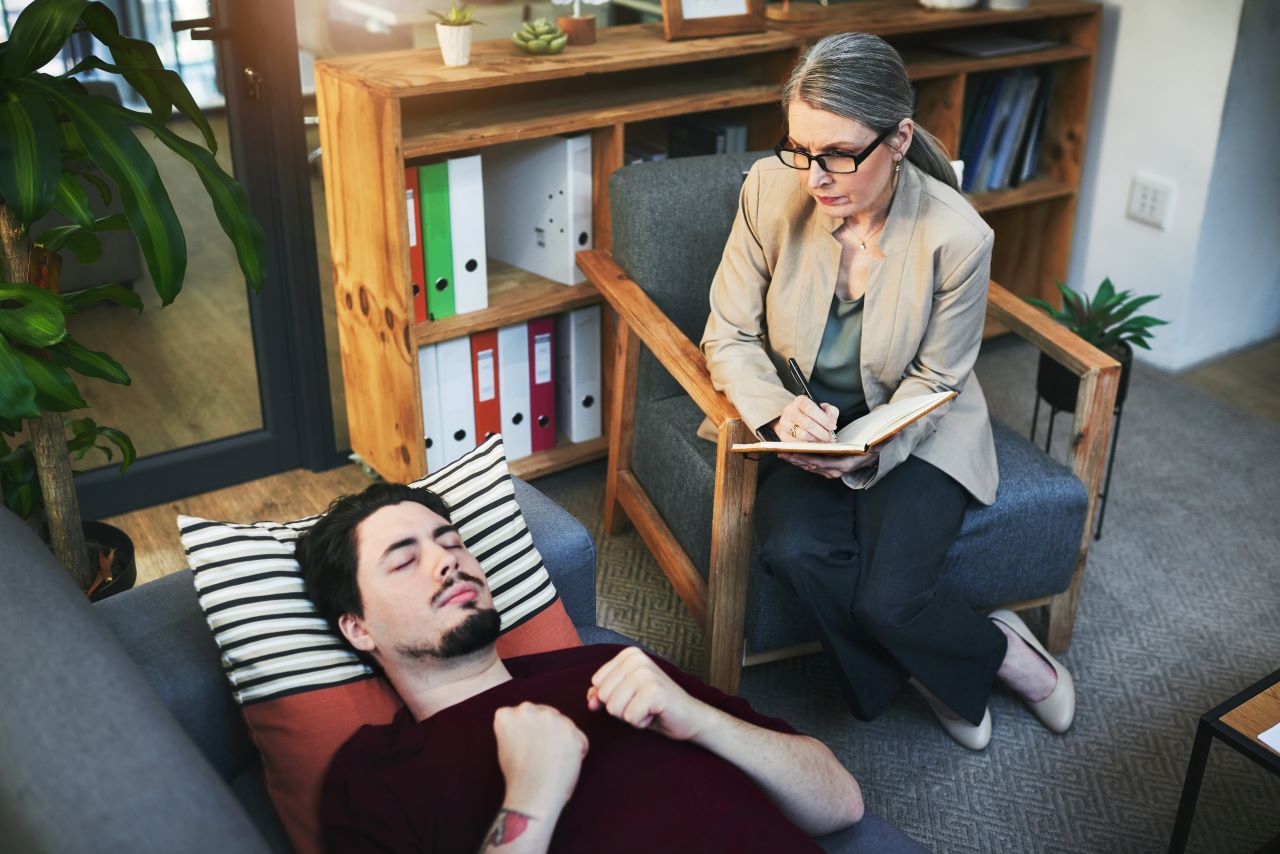
[[[595,543],[582,522],[567,510],[518,478],[512,478],[512,483],[516,503],[564,603],[564,611],[575,626],[594,626]]]

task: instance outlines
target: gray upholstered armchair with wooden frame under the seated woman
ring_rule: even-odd
[[[756,463],[728,447],[754,435],[713,388],[695,344],[742,178],[767,154],[620,169],[609,179],[612,255],[579,252],[618,315],[605,528],[620,530],[623,513],[636,526],[704,627],[708,681],[728,691],[744,665],[819,649],[800,600],[753,554]],[[1047,606],[1048,645],[1061,652],[1075,618],[1119,365],[995,282],[988,319],[1082,376],[1073,469],[995,424],[1000,493],[993,506],[966,515],[947,583],[979,608]],[[704,416],[717,426],[714,444],[695,435]]]

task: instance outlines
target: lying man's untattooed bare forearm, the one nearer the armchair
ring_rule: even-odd
[[[732,762],[791,822],[817,836],[863,817],[863,794],[824,744],[748,723],[710,705],[694,743]]]

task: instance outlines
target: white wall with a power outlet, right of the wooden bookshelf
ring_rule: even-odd
[[[1263,6],[1272,0],[1249,3]],[[1251,332],[1253,338],[1236,334],[1229,300],[1220,298],[1222,292],[1213,287],[1215,282],[1233,279],[1233,300],[1244,305],[1263,291],[1274,291],[1276,284],[1274,262],[1270,275],[1266,269],[1239,265],[1242,257],[1257,250],[1256,234],[1263,220],[1275,222],[1276,196],[1257,188],[1243,193],[1235,189],[1247,181],[1236,164],[1224,163],[1215,169],[1220,147],[1228,156],[1245,151],[1254,156],[1254,151],[1266,150],[1267,145],[1271,151],[1280,150],[1272,115],[1248,119],[1249,127],[1260,127],[1260,122],[1270,124],[1270,132],[1251,136],[1229,129],[1220,145],[1243,6],[1244,0],[1111,0],[1105,5],[1069,283],[1092,292],[1110,275],[1117,288],[1162,294],[1151,303],[1149,312],[1171,325],[1156,330],[1151,353],[1138,352],[1140,359],[1169,370],[1280,330],[1276,323],[1270,332]],[[1274,12],[1263,17],[1274,19]],[[1247,41],[1262,38],[1251,35]],[[1248,63],[1248,74],[1266,73],[1274,69],[1274,58],[1258,58]],[[1242,72],[1239,77],[1244,76]],[[1275,82],[1267,86],[1244,82],[1239,99],[1233,99],[1233,109],[1239,101],[1254,114],[1267,113],[1257,105],[1268,97],[1275,104],[1276,91]],[[1125,216],[1130,181],[1139,170],[1176,184],[1172,216],[1165,230]],[[1211,198],[1215,181],[1221,189]],[[1219,227],[1219,204],[1238,209],[1230,216],[1230,228]],[[1260,214],[1263,210],[1267,213]],[[1257,219],[1258,227],[1251,218]],[[1215,243],[1212,252],[1203,255],[1203,262],[1221,271],[1210,280],[1199,280],[1204,277],[1197,278],[1198,247],[1207,224]],[[1272,229],[1271,243],[1275,234]],[[1265,262],[1260,265],[1266,268]],[[1245,294],[1251,300],[1244,300]],[[1222,309],[1221,318],[1213,320],[1212,337],[1198,332],[1204,323],[1199,305],[1204,300],[1213,300]]]

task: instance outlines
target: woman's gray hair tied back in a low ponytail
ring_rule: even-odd
[[[782,87],[783,114],[794,99],[877,133],[911,118],[911,85],[902,58],[883,38],[865,32],[827,36],[805,51]],[[919,124],[906,159],[960,189],[942,143]]]

